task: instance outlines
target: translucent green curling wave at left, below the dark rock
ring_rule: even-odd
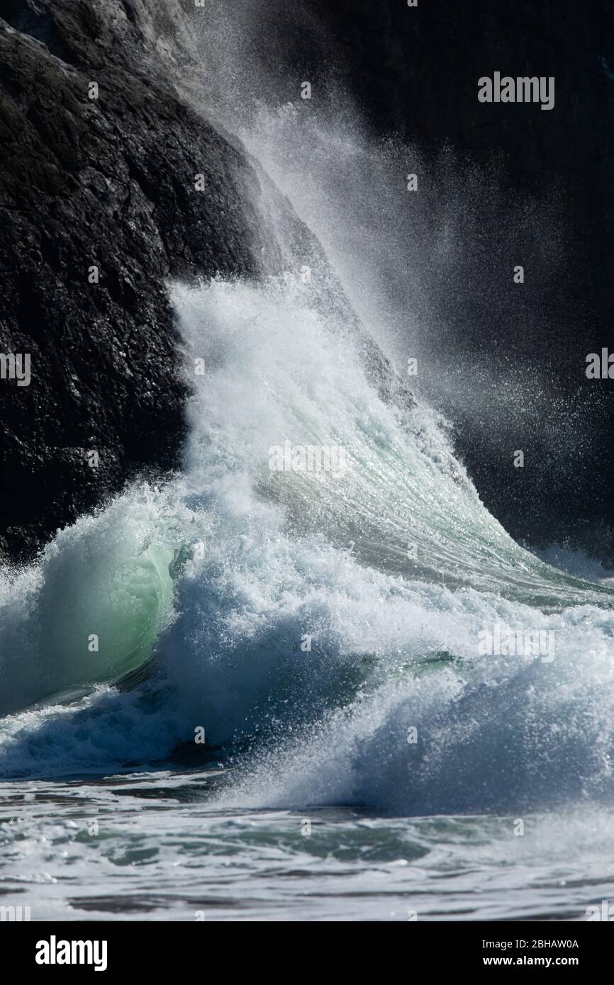
[[[0,582],[0,712],[118,681],[171,618],[173,553],[152,493],[119,497]]]

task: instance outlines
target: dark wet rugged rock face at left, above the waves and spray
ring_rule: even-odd
[[[275,257],[258,176],[165,84],[129,3],[0,0],[0,18],[0,353],[30,354],[32,374],[0,379],[0,551],[27,558],[137,471],[177,464],[165,279]]]

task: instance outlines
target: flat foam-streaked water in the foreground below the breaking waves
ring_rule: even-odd
[[[0,903],[33,920],[578,921],[614,893],[605,810],[530,816],[514,837],[512,817],[224,811],[216,778],[7,785]]]

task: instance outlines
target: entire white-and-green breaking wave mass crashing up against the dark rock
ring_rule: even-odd
[[[2,597],[5,710],[117,681],[157,637],[155,670],[5,718],[5,775],[151,762],[203,727],[235,756],[235,804],[609,799],[611,582],[512,541],[441,418],[382,392],[317,286],[172,296],[193,390],[181,475],[58,535]],[[286,442],[342,449],[344,468],[272,469]],[[484,652],[496,626],[516,635]],[[539,631],[550,648],[527,647]]]

